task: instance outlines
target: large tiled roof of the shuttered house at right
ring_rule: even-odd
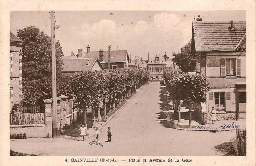
[[[196,51],[235,51],[246,33],[246,21],[193,22]],[[193,39],[192,39],[193,40]]]

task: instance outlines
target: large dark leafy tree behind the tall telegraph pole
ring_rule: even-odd
[[[43,104],[52,98],[52,56],[51,37],[35,26],[20,29],[17,36],[22,46],[23,102]],[[56,75],[60,74],[63,56],[60,41],[56,44]]]

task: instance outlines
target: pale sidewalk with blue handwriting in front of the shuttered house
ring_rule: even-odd
[[[175,121],[174,121],[175,122]],[[195,126],[197,122],[192,121],[192,129],[185,128],[188,125],[188,120],[183,120],[179,122],[175,122],[176,127],[175,129],[179,130],[190,130],[190,131],[228,131],[228,130],[236,130],[237,128],[243,129],[246,128],[246,120],[227,120],[227,121],[215,121],[212,124],[212,121],[207,121],[206,125],[198,124]]]

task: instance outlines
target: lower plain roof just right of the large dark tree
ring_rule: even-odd
[[[91,70],[97,58],[83,58],[83,59],[62,59],[62,72],[77,72],[81,70]],[[88,64],[89,60],[89,64]]]

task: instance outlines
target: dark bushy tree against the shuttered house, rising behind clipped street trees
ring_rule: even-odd
[[[172,53],[172,61],[181,67],[183,72],[194,72],[196,70],[196,54],[191,53],[191,41],[180,49],[180,53]]]

